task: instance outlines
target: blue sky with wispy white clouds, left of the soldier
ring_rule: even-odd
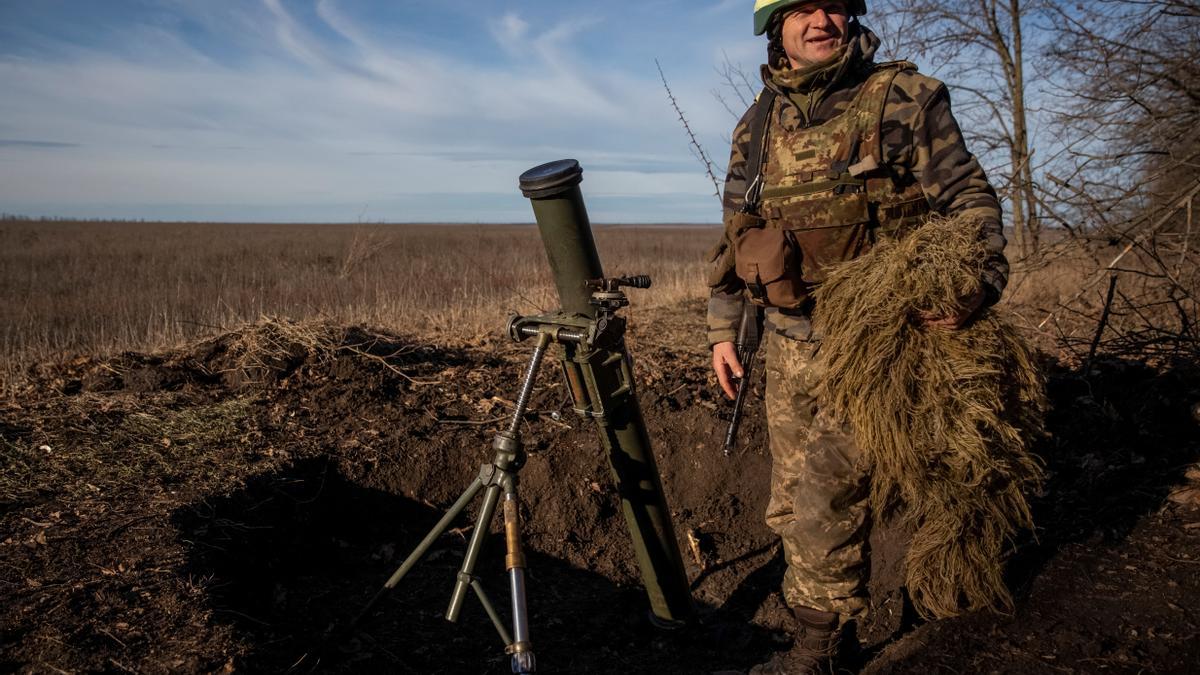
[[[654,59],[724,168],[750,0],[0,0],[0,211],[529,221],[576,157],[598,222],[716,222]]]

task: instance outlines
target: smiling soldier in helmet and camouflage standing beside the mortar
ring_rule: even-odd
[[[858,22],[865,0],[756,0],[768,36],[764,89],[733,132],[725,233],[714,247],[708,341],[721,389],[742,377],[733,340],[742,303],[766,306],[772,479],[767,524],[784,540],[791,651],[752,673],[826,673],[841,627],[864,616],[870,467],[850,429],[820,408],[812,288],[822,267],[900,235],[926,214],[982,223],[989,262],[978,291],[929,329],[964,325],[1007,283],[1000,202],[967,151],[946,86],[908,62],[876,64]]]

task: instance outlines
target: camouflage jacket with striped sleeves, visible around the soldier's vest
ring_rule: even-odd
[[[869,31],[865,36],[874,38]],[[864,42],[866,40],[864,38]],[[776,92],[775,108],[768,119],[770,130],[793,131],[824,124],[845,113],[862,90],[875,66],[870,61],[874,46],[864,49],[856,67],[842,68],[836,79],[818,91],[796,96],[774,82],[770,68],[763,66],[763,82]],[[790,96],[790,94],[792,94]],[[715,269],[708,303],[708,342],[732,341],[737,335],[744,285],[730,269],[733,247],[728,240],[730,219],[742,208],[748,189],[746,156],[750,145],[750,121],[757,103],[742,117],[733,131],[728,173],[725,179],[726,229],[710,253]],[[770,135],[773,131],[768,131]],[[776,132],[778,133],[778,132]],[[894,175],[906,177],[919,185],[930,209],[943,215],[970,214],[983,223],[989,263],[983,287],[986,304],[996,303],[1008,280],[1000,202],[995,190],[971,153],[967,151],[959,125],[950,112],[946,85],[919,74],[900,71],[887,94],[881,127],[882,162]],[[724,274],[722,274],[724,271]],[[767,309],[768,328],[798,339],[811,339],[806,312]]]

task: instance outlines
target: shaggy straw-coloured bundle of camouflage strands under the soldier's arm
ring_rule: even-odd
[[[1045,393],[1021,336],[994,307],[959,330],[920,319],[954,313],[985,259],[977,221],[936,217],[832,269],[817,295],[824,405],[854,430],[872,508],[913,530],[905,574],[925,616],[1012,608],[1002,556],[1043,479],[1027,444]]]

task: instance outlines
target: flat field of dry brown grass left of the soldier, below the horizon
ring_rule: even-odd
[[[715,227],[598,226],[605,271],[649,274],[634,315],[704,294]],[[0,222],[0,377],[152,350],[263,316],[470,340],[552,309],[533,226]]]

